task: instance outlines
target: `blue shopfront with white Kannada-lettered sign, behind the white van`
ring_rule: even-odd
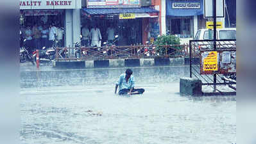
[[[166,33],[176,35],[182,43],[191,40],[197,29],[205,26],[203,0],[166,0]]]

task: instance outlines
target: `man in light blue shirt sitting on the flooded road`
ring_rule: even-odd
[[[132,76],[132,70],[128,68],[125,72],[125,74],[121,74],[116,85],[115,85],[115,93],[117,91],[117,88],[119,86],[119,95],[135,95],[135,94],[142,94],[144,93],[143,88],[134,88],[134,77]]]

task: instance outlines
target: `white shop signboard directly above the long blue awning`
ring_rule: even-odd
[[[141,0],[87,0],[87,8],[140,8]]]

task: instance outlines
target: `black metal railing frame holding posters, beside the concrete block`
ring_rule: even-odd
[[[232,84],[236,84],[236,80],[229,81],[225,77],[235,76],[236,72],[229,72],[229,70],[224,70],[221,66],[221,59],[218,58],[218,70],[217,71],[207,71],[203,72],[203,53],[214,51],[213,47],[214,40],[190,40],[189,41],[189,57],[190,57],[190,77],[195,77],[200,79],[203,85],[228,85],[233,90],[236,90]],[[230,52],[230,57],[234,54],[234,61],[236,58],[236,40],[216,40],[216,52],[218,52],[218,57],[221,57],[222,52]],[[192,58],[200,58],[200,65],[192,65]],[[223,56],[222,56],[223,57]],[[222,58],[223,59],[223,58]],[[235,62],[230,62],[235,63]],[[223,65],[223,64],[222,64]],[[203,73],[201,73],[203,72]],[[216,74],[216,83],[214,83],[213,76]],[[219,93],[223,93],[216,89]]]

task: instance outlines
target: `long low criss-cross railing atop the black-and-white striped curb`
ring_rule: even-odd
[[[73,54],[71,54],[73,51]],[[56,61],[108,60],[118,58],[189,57],[189,45],[128,45],[57,47]]]

